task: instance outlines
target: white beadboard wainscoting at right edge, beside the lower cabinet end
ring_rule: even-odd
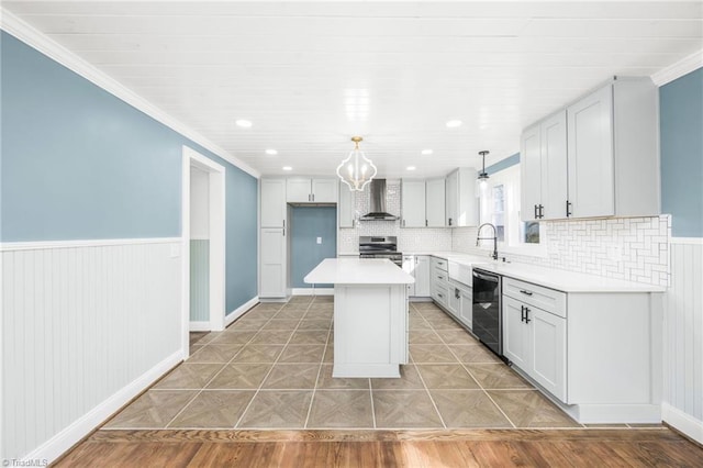
[[[663,420],[703,443],[703,238],[671,238]]]

